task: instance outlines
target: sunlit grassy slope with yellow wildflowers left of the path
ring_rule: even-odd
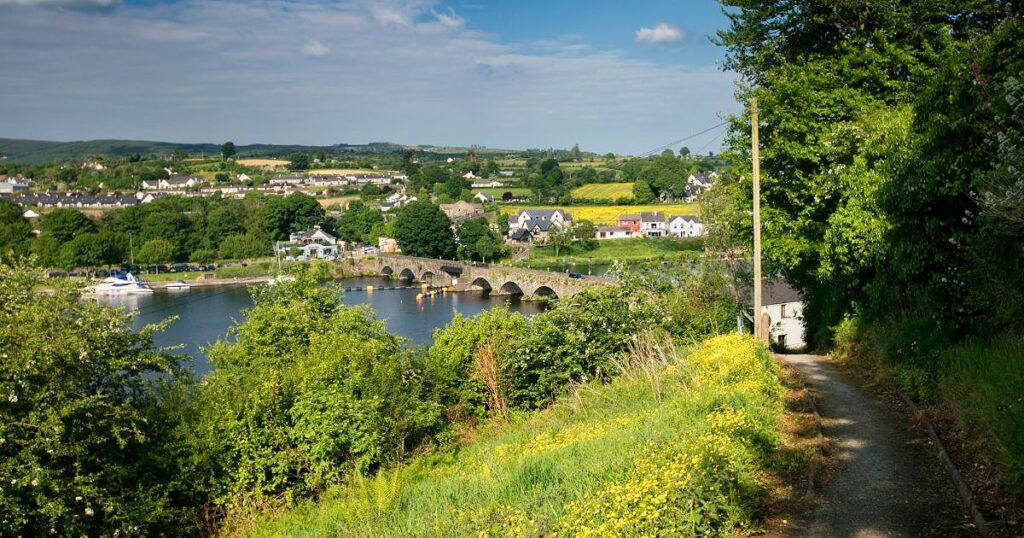
[[[657,346],[655,346],[655,344]],[[666,366],[668,365],[668,366]],[[226,533],[252,536],[733,536],[756,531],[783,458],[777,367],[723,336],[686,358],[646,340],[608,384],[494,420],[457,451],[356,478]]]

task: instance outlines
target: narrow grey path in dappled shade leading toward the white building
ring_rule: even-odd
[[[974,536],[934,448],[889,402],[822,357],[780,356],[814,392],[835,468],[793,536]]]

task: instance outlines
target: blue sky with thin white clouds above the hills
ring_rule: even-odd
[[[636,155],[739,111],[727,24],[714,0],[0,0],[0,137]]]

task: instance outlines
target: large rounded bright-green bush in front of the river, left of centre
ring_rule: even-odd
[[[314,495],[393,462],[443,425],[401,340],[300,273],[254,292],[197,405],[207,494],[223,504]]]

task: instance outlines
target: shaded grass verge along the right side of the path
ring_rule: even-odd
[[[1024,337],[947,343],[920,323],[844,322],[837,355],[919,402],[988,518],[1024,524]]]

